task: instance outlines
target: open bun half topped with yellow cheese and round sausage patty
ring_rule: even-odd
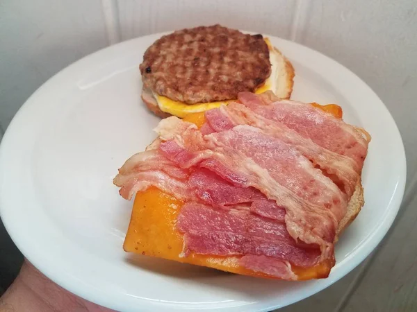
[[[236,101],[239,92],[290,98],[291,63],[262,35],[200,26],[164,35],[140,64],[142,101],[163,118],[204,112]]]

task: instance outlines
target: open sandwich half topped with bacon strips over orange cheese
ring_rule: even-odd
[[[338,105],[267,91],[161,120],[113,180],[135,198],[124,250],[253,277],[328,277],[364,203],[370,142],[342,117]]]

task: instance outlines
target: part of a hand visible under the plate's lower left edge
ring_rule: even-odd
[[[0,297],[0,312],[111,312],[65,291],[24,261],[19,275]]]

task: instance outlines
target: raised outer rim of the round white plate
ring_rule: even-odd
[[[31,261],[31,263],[33,263],[33,265],[35,267],[37,267],[42,273],[44,273],[44,275],[46,275],[47,277],[49,277],[49,279],[53,280],[54,282],[56,282],[56,284],[59,284],[60,286],[63,286],[64,288],[67,288],[69,291],[71,291],[72,293],[75,293],[76,295],[79,295],[81,297],[85,297],[87,300],[90,300],[92,302],[95,302],[97,304],[101,304],[101,305],[105,305],[110,307],[111,309],[120,309],[120,307],[126,308],[126,305],[122,305],[120,306],[120,304],[115,304],[114,302],[111,302],[108,300],[108,298],[103,299],[101,298],[97,293],[92,293],[91,289],[84,289],[84,291],[80,291],[79,289],[76,289],[75,286],[79,286],[76,285],[76,283],[71,284],[71,282],[69,280],[65,280],[65,276],[64,274],[60,274],[59,272],[59,265],[56,265],[56,270],[49,270],[49,268],[47,268],[44,263],[42,263],[42,259],[40,259],[41,257],[35,257],[35,255],[33,254],[28,254],[28,248],[26,248],[26,246],[24,246],[24,242],[22,240],[22,237],[19,237],[20,234],[15,232],[15,230],[13,229],[13,225],[11,225],[10,223],[8,223],[8,209],[10,208],[6,208],[3,205],[3,192],[1,191],[1,189],[3,189],[1,186],[3,184],[1,184],[3,181],[3,174],[1,172],[2,169],[6,168],[6,164],[3,163],[3,159],[6,158],[6,153],[11,153],[10,152],[10,140],[13,137],[13,135],[15,134],[15,132],[17,131],[14,130],[15,128],[17,128],[17,125],[19,123],[19,121],[21,119],[23,119],[24,113],[26,112],[26,110],[28,110],[29,105],[31,105],[33,98],[35,98],[36,94],[42,92],[44,89],[47,89],[49,87],[49,85],[51,83],[54,83],[54,80],[56,80],[58,77],[61,76],[65,76],[65,74],[70,71],[71,69],[77,67],[77,65],[81,62],[86,62],[89,59],[93,59],[96,58],[96,55],[99,55],[100,53],[103,53],[103,51],[105,50],[109,50],[109,49],[121,49],[122,46],[124,45],[128,45],[129,42],[133,42],[136,40],[142,40],[143,38],[151,38],[151,37],[161,37],[162,35],[165,35],[167,33],[171,33],[172,31],[165,31],[162,33],[152,33],[149,35],[144,35],[144,36],[140,36],[140,37],[135,37],[132,38],[131,40],[126,40],[123,42],[120,42],[118,44],[114,44],[113,46],[106,46],[103,49],[99,49],[98,51],[95,51],[93,53],[90,53],[89,55],[85,55],[83,58],[77,60],[76,62],[73,62],[72,64],[68,65],[67,67],[61,69],[60,71],[58,71],[58,73],[56,73],[54,76],[52,76],[51,78],[49,78],[45,83],[43,83],[35,92],[33,92],[33,94],[31,94],[31,96],[25,101],[25,103],[22,105],[22,107],[19,108],[18,112],[15,114],[15,116],[13,117],[12,121],[10,122],[10,125],[8,126],[8,128],[6,129],[6,132],[3,135],[3,139],[1,141],[0,144],[0,216],[1,219],[3,220],[3,224],[6,227],[6,230],[8,232],[8,234],[10,235],[11,239],[13,240],[13,242],[18,246],[19,250],[22,252],[22,254],[24,254],[24,256],[26,257],[26,259],[28,259],[29,261]],[[252,31],[243,31],[244,33],[255,33]],[[309,48],[308,46],[304,46],[298,42],[292,42],[291,40],[286,40],[284,38],[281,37],[277,37],[274,35],[268,35],[268,34],[263,34],[267,37],[272,38],[273,40],[278,40],[281,42],[286,42],[286,44],[291,44],[293,46],[295,46],[298,50],[305,50],[308,51],[309,53],[311,53],[311,55],[318,55],[320,58],[325,59],[327,62],[331,62],[332,64],[334,64],[336,67],[339,67],[341,69],[343,69],[343,71],[345,71],[346,73],[349,73],[350,75],[354,76],[356,78],[356,80],[358,80],[358,82],[361,83],[361,85],[363,85],[363,87],[366,87],[367,92],[370,92],[370,94],[373,95],[373,97],[375,98],[375,100],[379,100],[379,105],[380,108],[382,110],[385,110],[385,113],[388,114],[390,122],[393,125],[393,129],[392,131],[395,132],[393,133],[393,135],[395,135],[395,137],[397,137],[397,139],[399,139],[397,141],[397,144],[399,144],[398,148],[400,148],[401,150],[398,151],[398,154],[401,155],[401,159],[400,159],[400,181],[397,184],[397,188],[395,189],[394,193],[393,193],[393,198],[391,198],[391,202],[389,202],[388,208],[391,209],[390,214],[387,214],[386,218],[384,219],[384,227],[383,228],[378,228],[378,232],[377,232],[377,236],[373,236],[372,239],[370,239],[370,241],[368,242],[368,247],[369,247],[369,251],[363,252],[363,255],[361,254],[352,254],[352,257],[354,257],[355,261],[346,263],[346,265],[344,266],[344,273],[339,274],[338,276],[336,276],[336,278],[332,278],[332,279],[323,279],[322,282],[320,284],[319,287],[316,287],[313,291],[311,291],[309,289],[309,291],[307,291],[307,295],[299,298],[299,299],[295,299],[295,300],[289,300],[289,302],[286,302],[284,305],[281,306],[277,306],[277,305],[270,305],[270,306],[265,306],[263,305],[262,308],[259,309],[259,303],[257,302],[256,304],[250,304],[250,306],[254,309],[256,309],[256,311],[268,311],[270,309],[277,309],[277,308],[281,308],[283,306],[287,306],[290,304],[293,304],[295,302],[298,302],[300,300],[304,300],[306,299],[306,297],[310,297],[311,295],[314,295],[320,291],[322,291],[323,289],[331,286],[332,284],[334,284],[334,282],[338,281],[339,279],[341,279],[342,277],[344,277],[345,275],[347,275],[347,273],[351,272],[356,266],[359,265],[359,263],[361,263],[364,259],[366,259],[366,257],[368,257],[368,255],[373,252],[373,250],[375,250],[375,248],[377,247],[377,245],[382,241],[382,239],[384,239],[384,237],[386,236],[387,232],[389,231],[389,229],[391,228],[396,216],[398,215],[398,211],[400,209],[400,205],[402,203],[402,199],[404,197],[404,189],[405,189],[405,182],[406,182],[406,177],[407,177],[407,162],[406,162],[406,155],[405,155],[405,150],[404,150],[404,143],[402,141],[402,137],[400,134],[400,131],[398,130],[398,125],[395,123],[395,120],[393,119],[393,116],[391,115],[391,113],[389,112],[388,108],[386,107],[386,105],[384,104],[384,102],[379,98],[379,96],[377,96],[377,94],[375,94],[375,92],[373,91],[373,89],[371,89],[369,87],[368,84],[366,84],[359,76],[357,76],[355,73],[353,73],[352,71],[350,71],[350,69],[347,69],[347,67],[345,67],[343,64],[337,62],[336,60],[334,60],[333,58],[330,58],[329,56],[320,53],[319,51],[316,51],[314,49]],[[291,60],[291,55],[286,55],[290,60]],[[5,143],[6,142],[6,143]],[[9,150],[6,150],[6,148],[9,146]],[[387,221],[387,218],[389,218],[389,220]],[[382,227],[382,225],[381,225]],[[357,252],[358,253],[358,252]],[[57,270],[58,269],[58,270]],[[68,276],[67,276],[68,277]],[[86,295],[87,294],[87,295]],[[142,299],[142,303],[144,304],[144,308],[147,306],[147,304],[149,304],[149,300],[146,299]],[[163,303],[162,303],[163,304]],[[155,307],[155,306],[161,306],[159,304],[154,305],[154,302],[152,302],[148,307]],[[181,309],[180,306],[172,306],[172,304],[170,304],[170,306],[166,306],[166,305],[162,305],[165,308],[170,308],[170,309]],[[258,307],[256,307],[258,306]],[[208,307],[208,309],[216,309],[215,307]],[[219,308],[217,308],[219,309]],[[220,308],[220,309],[224,309],[224,308]],[[202,311],[201,309],[199,309],[199,311]]]

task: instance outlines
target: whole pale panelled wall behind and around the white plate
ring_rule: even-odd
[[[84,55],[140,35],[215,23],[284,37],[341,62],[386,103],[406,148],[406,196],[383,243],[341,281],[282,311],[417,311],[414,0],[3,0],[0,136],[35,89]]]

